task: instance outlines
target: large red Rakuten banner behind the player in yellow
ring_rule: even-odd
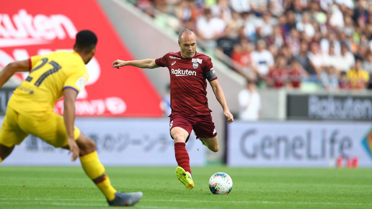
[[[96,55],[87,64],[89,81],[78,95],[76,114],[161,116],[160,96],[140,69],[112,68],[114,60],[133,57],[94,0],[12,0],[1,4],[0,68],[32,55],[71,50],[76,33],[83,29],[96,33],[98,44]],[[22,81],[27,74],[16,76]],[[59,101],[55,111],[62,110],[63,102]]]

